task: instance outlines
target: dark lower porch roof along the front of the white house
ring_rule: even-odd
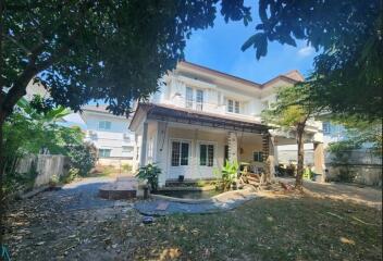
[[[195,124],[231,130],[264,134],[271,128],[270,126],[263,125],[256,120],[244,120],[231,115],[220,115],[185,108],[177,108],[169,104],[153,103],[138,104],[136,113],[129,124],[129,128],[132,124],[134,124],[138,111],[146,112],[147,119],[149,120]]]

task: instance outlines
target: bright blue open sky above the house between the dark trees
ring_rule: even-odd
[[[297,42],[296,48],[269,42],[267,57],[259,61],[252,48],[245,52],[240,50],[242,45],[255,34],[255,27],[260,22],[257,2],[246,1],[246,5],[251,7],[252,12],[252,22],[247,27],[243,22],[226,24],[219,15],[214,27],[194,32],[186,44],[186,61],[256,83],[264,83],[291,70],[299,70],[307,76],[312,70],[316,52],[304,41]]]

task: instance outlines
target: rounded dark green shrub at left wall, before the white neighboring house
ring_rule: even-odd
[[[78,170],[79,176],[86,176],[95,166],[97,149],[92,144],[71,146],[67,156],[71,158],[72,167]]]

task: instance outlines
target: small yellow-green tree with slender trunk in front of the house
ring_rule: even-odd
[[[305,127],[307,122],[321,112],[310,99],[310,85],[300,83],[295,86],[282,87],[277,91],[276,102],[271,109],[262,111],[262,120],[274,124],[283,130],[295,132],[298,145],[298,162],[295,187],[301,189],[305,158]]]

